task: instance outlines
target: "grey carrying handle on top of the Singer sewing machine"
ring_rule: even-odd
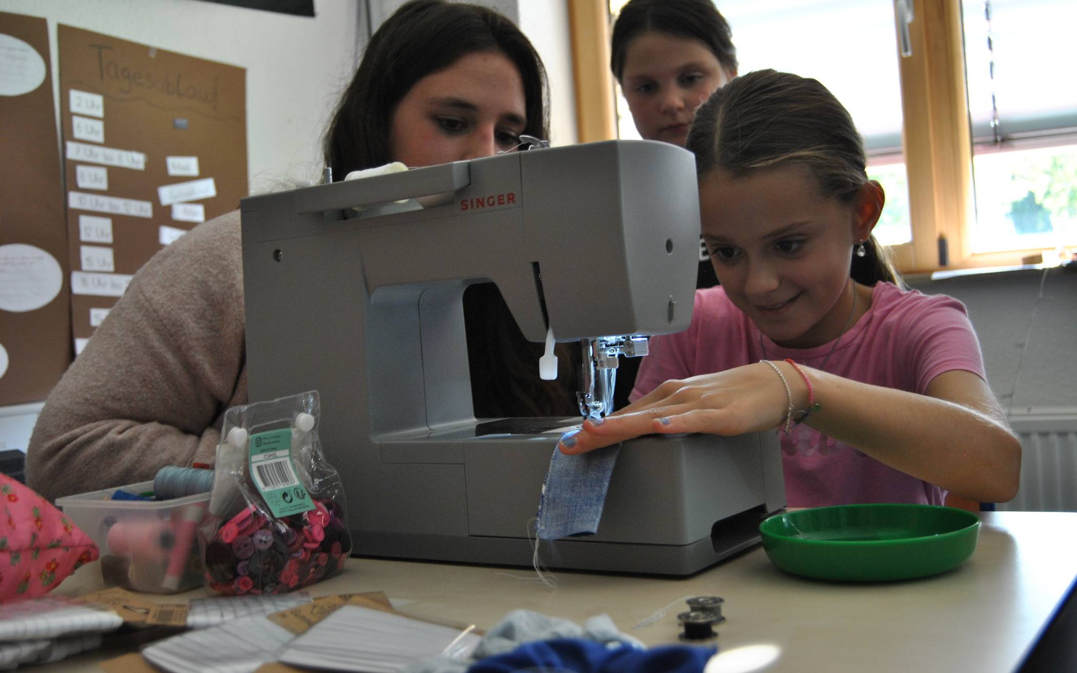
[[[311,213],[368,208],[409,198],[451,194],[470,184],[471,167],[467,162],[454,162],[300,190],[295,194],[295,210]]]

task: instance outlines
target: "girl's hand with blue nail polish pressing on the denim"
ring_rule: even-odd
[[[794,408],[802,408],[803,399],[799,406],[797,401],[807,397],[803,382],[789,365],[775,364],[783,367],[789,385],[796,385],[792,389]],[[652,433],[760,432],[784,423],[787,410],[788,396],[781,378],[769,365],[756,363],[666,381],[616,413],[585,420],[579,431],[561,437],[558,448],[575,454]]]

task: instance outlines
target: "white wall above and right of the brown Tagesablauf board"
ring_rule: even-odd
[[[356,0],[314,0],[313,18],[196,0],[0,0],[0,10],[48,19],[56,100],[58,23],[246,68],[252,193],[320,176],[321,135],[354,73],[365,14]]]

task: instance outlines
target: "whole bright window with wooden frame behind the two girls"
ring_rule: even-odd
[[[616,16],[627,0],[607,1]],[[715,4],[741,72],[815,78],[849,109],[899,269],[939,268],[942,237],[951,267],[1077,248],[1077,2],[913,0],[909,57],[894,0]],[[620,137],[638,138],[623,99],[616,111]]]

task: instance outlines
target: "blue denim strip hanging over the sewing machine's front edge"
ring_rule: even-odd
[[[577,455],[554,449],[538,501],[538,539],[588,535],[599,530],[619,452],[620,445]]]

